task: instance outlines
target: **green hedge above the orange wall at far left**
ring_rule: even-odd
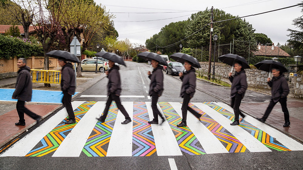
[[[29,39],[0,35],[0,59],[28,58],[43,53],[39,44],[33,44]]]

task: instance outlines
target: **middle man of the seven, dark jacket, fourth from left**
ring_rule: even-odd
[[[148,78],[151,79],[151,84],[149,85],[149,94],[151,96],[151,108],[154,115],[152,121],[148,121],[149,124],[158,124],[158,115],[162,118],[162,123],[165,121],[162,114],[157,108],[158,98],[162,95],[163,92],[163,72],[162,66],[159,65],[159,62],[156,60],[151,60],[151,65],[154,68],[152,74],[148,71]]]

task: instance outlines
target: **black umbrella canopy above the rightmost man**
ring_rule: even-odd
[[[257,69],[263,70],[265,72],[271,72],[272,68],[279,68],[280,73],[287,72],[287,69],[281,62],[275,62],[274,60],[263,60],[254,66],[256,66]]]

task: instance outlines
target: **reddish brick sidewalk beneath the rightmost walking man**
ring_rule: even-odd
[[[287,108],[290,115],[290,126],[283,127],[284,113],[280,103],[278,102],[265,123],[285,132],[303,142],[303,101],[291,100],[287,101]],[[249,113],[252,116],[261,118],[269,103],[242,103],[240,109]]]

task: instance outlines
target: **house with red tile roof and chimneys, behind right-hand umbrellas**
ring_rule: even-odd
[[[290,57],[290,55],[279,48],[278,46],[274,46],[272,43],[271,46],[258,45],[258,49],[253,52],[254,56],[268,56],[268,57]]]

